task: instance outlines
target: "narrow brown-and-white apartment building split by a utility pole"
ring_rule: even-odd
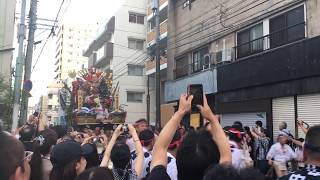
[[[156,72],[156,23],[154,11],[151,7],[151,1],[147,4],[147,39],[146,48],[150,58],[145,63],[147,75],[146,92],[149,89],[150,97],[150,119],[156,119],[156,85],[155,85],[155,72]],[[168,34],[168,0],[159,1],[159,14],[160,14],[160,103],[161,103],[161,124],[170,119],[173,114],[173,105],[167,104],[164,101],[164,83],[167,79],[167,34]]]

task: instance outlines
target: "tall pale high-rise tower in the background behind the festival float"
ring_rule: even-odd
[[[55,80],[68,80],[70,72],[88,67],[82,49],[93,38],[94,30],[86,25],[63,24],[57,33]],[[69,80],[68,83],[71,81]]]

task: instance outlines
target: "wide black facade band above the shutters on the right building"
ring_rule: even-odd
[[[217,70],[218,90],[223,92],[320,76],[319,47],[320,36],[302,39],[221,66]]]

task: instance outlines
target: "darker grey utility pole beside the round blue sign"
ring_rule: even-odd
[[[24,67],[24,81],[30,80],[31,78],[31,66],[32,66],[32,55],[34,47],[34,33],[36,31],[36,21],[37,21],[37,5],[38,0],[30,1],[30,11],[29,11],[29,35],[28,35],[28,46],[25,59]],[[25,89],[25,87],[23,88]],[[23,90],[24,92],[24,90]],[[28,113],[28,96],[26,93],[22,93],[22,102],[20,110],[20,121],[25,122]]]

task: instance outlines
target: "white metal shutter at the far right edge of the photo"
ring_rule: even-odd
[[[298,119],[305,121],[310,126],[320,124],[320,94],[302,95],[297,98]],[[299,137],[305,134],[299,128]]]

